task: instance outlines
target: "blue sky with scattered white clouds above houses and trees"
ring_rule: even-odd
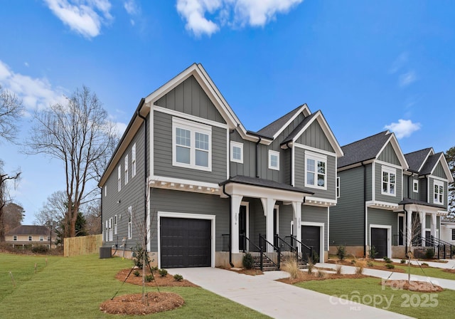
[[[307,103],[346,145],[395,131],[403,152],[455,146],[455,2],[0,0],[0,85],[35,108],[87,85],[119,132],[139,100],[202,63],[247,130]],[[60,162],[3,142],[33,223]]]

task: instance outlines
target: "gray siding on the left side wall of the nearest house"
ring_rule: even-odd
[[[147,127],[149,127],[149,117],[147,117]],[[122,239],[128,238],[128,207],[132,206],[133,218],[139,221],[144,220],[144,193],[145,193],[145,182],[144,174],[145,173],[145,163],[144,163],[144,152],[149,150],[149,146],[144,147],[144,123],[141,124],[141,127],[134,135],[132,142],[129,143],[127,150],[124,152],[120,158],[117,166],[112,171],[112,173],[107,178],[105,186],[102,188],[102,233],[103,240],[106,239],[105,227],[106,221],[109,221],[110,218],[114,218],[117,215],[117,235],[114,234],[113,241],[107,241],[105,246],[112,246],[114,243],[122,244]],[[136,144],[136,175],[132,176],[132,146]],[[129,181],[125,185],[125,169],[124,169],[124,159],[128,155],[128,174]],[[150,163],[149,152],[146,152],[147,162]],[[122,172],[122,189],[118,192],[117,184],[117,169],[121,165]],[[106,192],[105,192],[106,187]],[[113,225],[112,225],[113,227]],[[137,229],[132,226],[132,239],[127,239],[129,243],[139,241],[139,236],[137,234]],[[118,237],[118,241],[117,241]],[[128,245],[129,247],[135,246],[135,244]]]

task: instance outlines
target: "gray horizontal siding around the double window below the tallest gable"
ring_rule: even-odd
[[[172,115],[154,112],[154,174],[162,177],[220,183],[226,179],[226,129],[212,126],[212,171],[172,165]]]

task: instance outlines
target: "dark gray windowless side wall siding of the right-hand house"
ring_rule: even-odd
[[[330,208],[331,246],[363,246],[363,167],[338,172],[341,196]]]

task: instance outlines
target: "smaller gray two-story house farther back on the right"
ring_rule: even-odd
[[[331,252],[402,258],[419,239],[439,238],[447,214],[447,183],[452,182],[442,153],[432,149],[402,153],[394,133],[343,146],[338,159],[340,197],[331,209]]]

